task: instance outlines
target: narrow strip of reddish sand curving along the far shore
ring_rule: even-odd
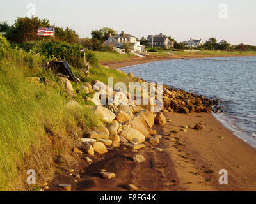
[[[127,66],[145,64],[156,61],[165,61],[165,60],[173,60],[173,59],[199,59],[206,57],[255,57],[256,55],[175,55],[175,56],[146,56],[146,57],[132,57],[126,61],[100,61],[99,63],[102,66],[108,66],[109,68],[119,69]]]

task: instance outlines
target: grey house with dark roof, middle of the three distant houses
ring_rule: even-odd
[[[153,47],[163,48],[170,48],[174,46],[174,42],[170,41],[166,35],[163,35],[163,33],[160,33],[159,35],[149,35],[147,40],[150,47],[152,47],[152,44]]]

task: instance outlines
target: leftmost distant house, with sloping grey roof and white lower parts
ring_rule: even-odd
[[[125,34],[124,31],[122,31],[117,36],[109,36],[108,40],[106,40],[102,46],[124,48],[125,43],[129,43],[132,52],[145,51],[145,45],[140,45],[140,42],[137,41],[135,36],[132,36],[131,34]]]

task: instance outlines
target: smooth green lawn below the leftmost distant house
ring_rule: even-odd
[[[119,54],[118,52],[111,51],[94,51],[93,53],[99,61],[125,61],[135,56],[134,54]]]

